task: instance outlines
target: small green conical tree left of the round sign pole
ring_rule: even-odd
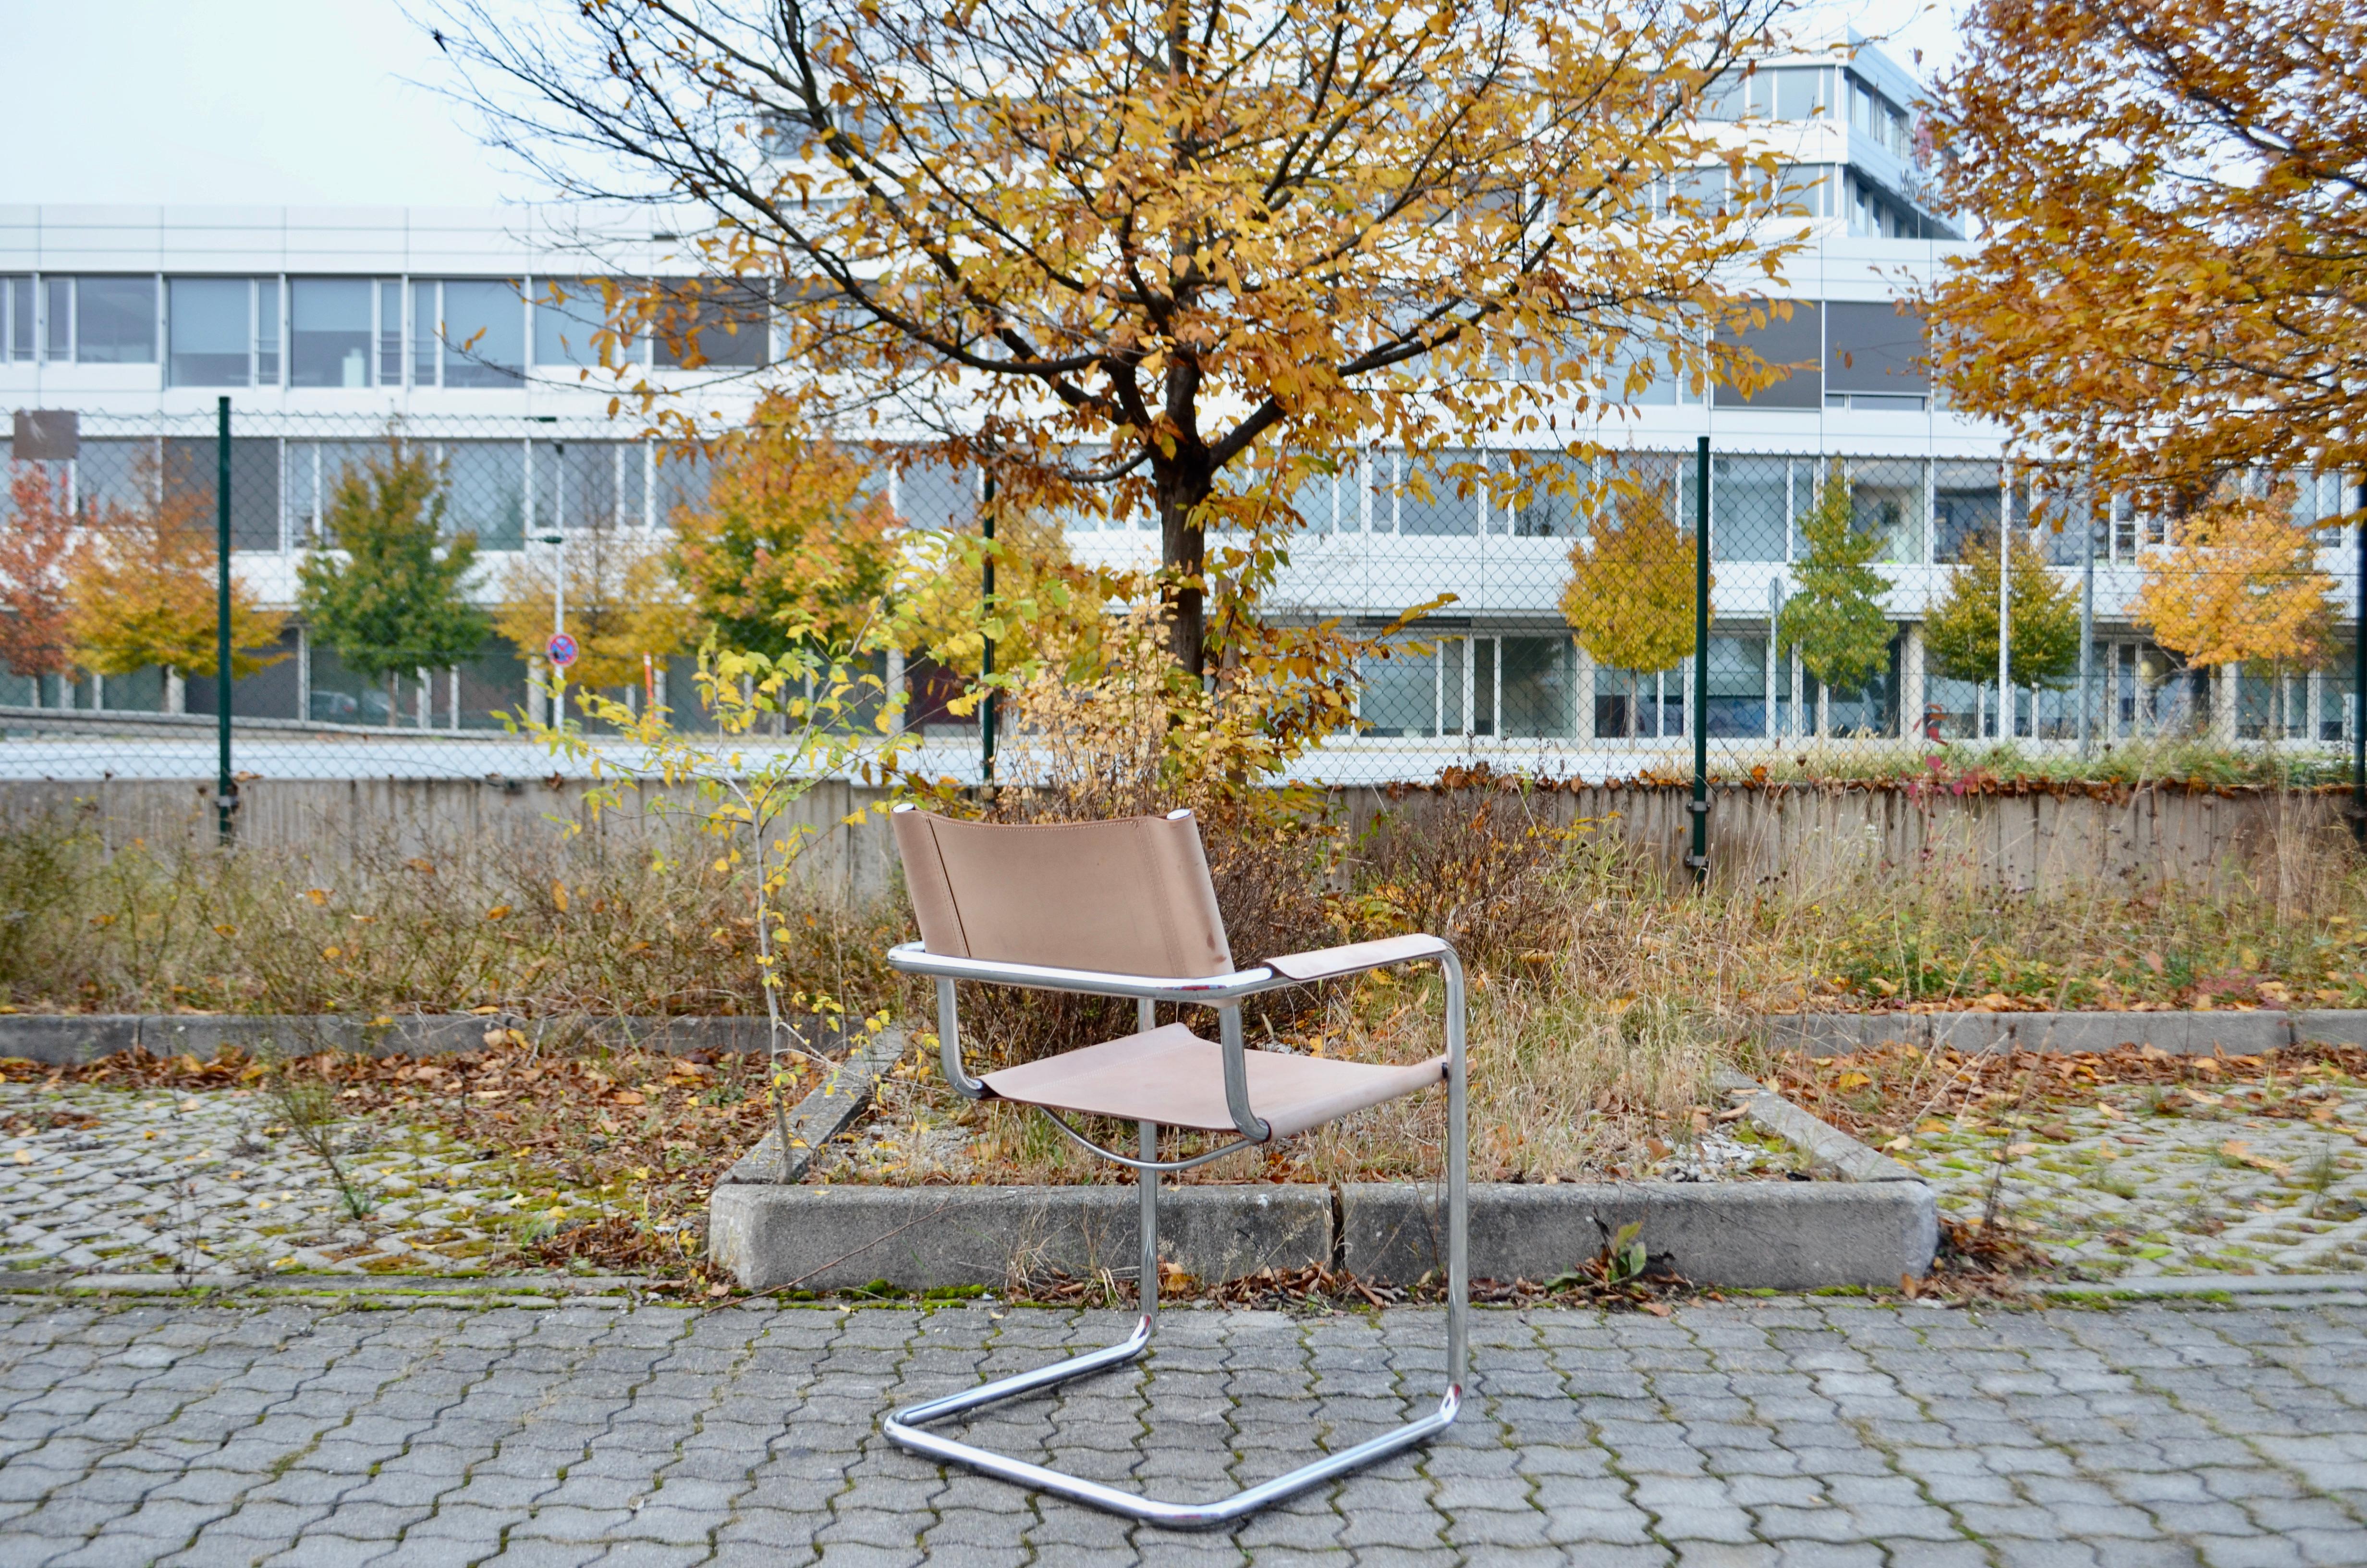
[[[476,656],[490,625],[466,599],[476,535],[443,533],[443,476],[419,448],[346,469],[329,502],[334,550],[296,568],[296,606],[312,635],[365,680],[386,680],[386,722],[400,718],[395,677]]]

